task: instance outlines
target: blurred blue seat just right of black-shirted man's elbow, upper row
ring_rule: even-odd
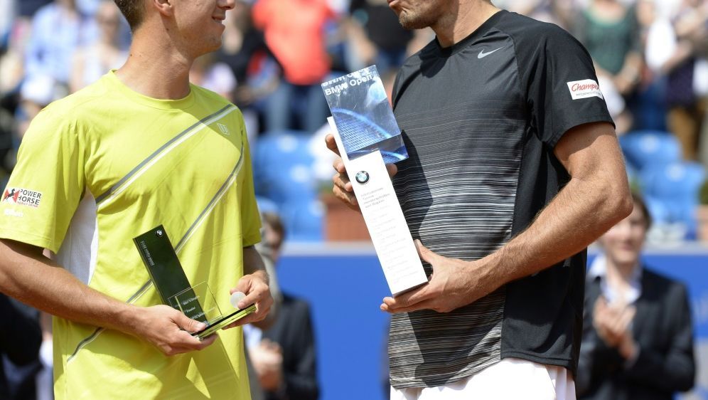
[[[681,160],[681,145],[668,132],[644,130],[629,132],[619,138],[628,164],[638,170]]]

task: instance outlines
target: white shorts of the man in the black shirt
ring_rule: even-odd
[[[443,386],[391,387],[391,400],[575,400],[572,374],[554,365],[505,358]]]

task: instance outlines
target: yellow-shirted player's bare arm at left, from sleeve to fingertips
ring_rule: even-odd
[[[190,332],[203,330],[205,324],[167,305],[138,307],[89,288],[42,252],[0,238],[0,293],[67,320],[133,335],[167,355],[203,349],[217,338],[200,342]]]

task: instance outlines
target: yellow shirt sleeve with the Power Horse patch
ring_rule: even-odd
[[[52,106],[23,137],[16,167],[2,192],[0,238],[57,252],[85,188],[77,127]]]

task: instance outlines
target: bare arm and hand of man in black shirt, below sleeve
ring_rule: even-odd
[[[632,200],[611,125],[589,123],[569,130],[554,154],[571,179],[525,231],[471,261],[446,258],[417,243],[420,258],[433,267],[428,285],[385,298],[381,309],[455,310],[573,256],[630,214]]]

